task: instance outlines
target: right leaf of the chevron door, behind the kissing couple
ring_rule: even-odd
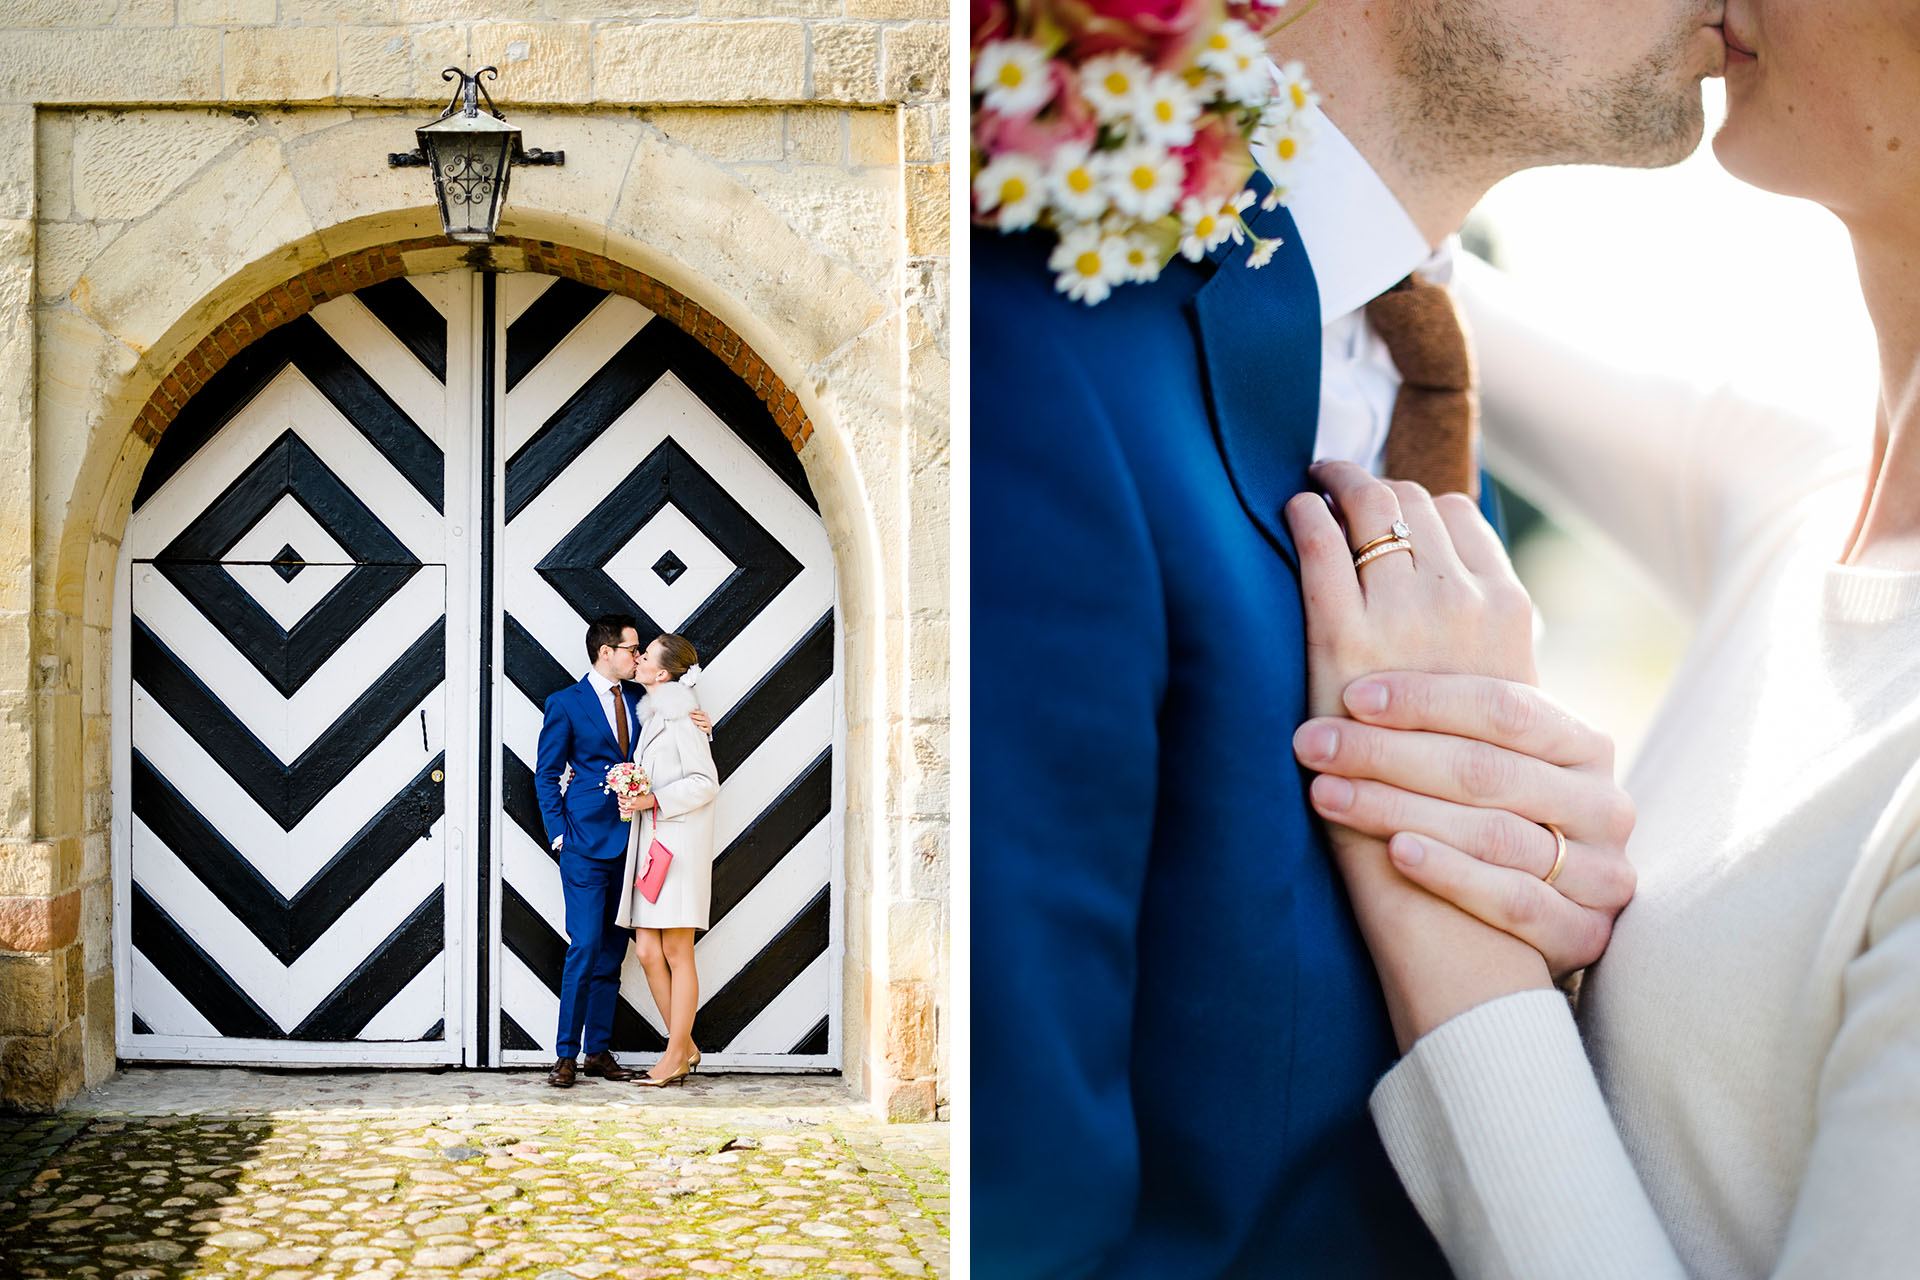
[[[509,276],[501,1015],[507,1061],[553,1055],[564,910],[534,802],[541,704],[586,672],[586,620],[699,649],[720,768],[695,1034],[716,1067],[839,1065],[833,557],[793,447],[712,353],[639,303]],[[628,956],[616,1052],[664,1023]]]

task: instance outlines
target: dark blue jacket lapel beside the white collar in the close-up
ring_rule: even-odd
[[[1267,184],[1256,175],[1254,188]],[[1246,514],[1298,570],[1286,532],[1286,499],[1306,487],[1319,420],[1319,286],[1286,207],[1252,205],[1254,232],[1279,236],[1273,261],[1248,269],[1252,244],[1219,255],[1213,278],[1194,296],[1194,332],[1208,382],[1213,438]]]

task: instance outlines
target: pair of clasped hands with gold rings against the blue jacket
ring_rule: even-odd
[[[1392,892],[1354,875],[1386,841],[1405,881],[1532,944],[1555,979],[1586,967],[1634,894],[1634,806],[1613,743],[1534,687],[1532,606],[1505,549],[1461,493],[1350,462],[1313,476],[1352,533],[1317,495],[1288,505],[1315,716],[1294,752],[1317,773],[1311,802],[1336,823],[1356,906]],[[1356,572],[1352,549],[1394,520],[1413,553]],[[1548,821],[1567,839],[1553,885]]]

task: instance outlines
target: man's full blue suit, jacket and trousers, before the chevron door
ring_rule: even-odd
[[[603,789],[607,770],[632,758],[639,741],[639,699],[630,685],[626,700],[628,752],[612,735],[591,677],[547,699],[547,718],[540,725],[540,754],[534,760],[534,794],[547,829],[547,844],[561,841],[561,890],[566,900],[566,961],[561,967],[561,1029],[555,1055],[574,1057],[582,1048],[599,1054],[612,1036],[612,1013],[620,1000],[620,961],[628,933],[612,921],[620,910],[620,873],[626,867],[626,835],[620,806]],[[574,768],[574,779],[561,793],[561,773]]]

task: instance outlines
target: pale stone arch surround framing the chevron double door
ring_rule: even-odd
[[[841,564],[847,647],[847,1073],[887,1105],[925,1113],[935,1098],[937,1071],[933,975],[925,967],[902,975],[889,967],[887,956],[889,938],[924,936],[912,925],[925,921],[925,908],[937,910],[937,904],[918,904],[920,913],[908,921],[891,912],[899,894],[895,885],[914,875],[904,865],[914,854],[902,846],[904,829],[895,800],[899,785],[893,781],[908,768],[914,747],[900,727],[906,677],[900,674],[899,641],[887,639],[889,626],[899,628],[902,618],[897,587],[891,585],[904,572],[900,551],[889,549],[881,535],[883,528],[899,528],[899,514],[887,509],[897,499],[889,497],[891,480],[868,474],[876,464],[891,464],[891,447],[883,438],[899,432],[906,397],[906,319],[889,311],[881,290],[824,259],[818,244],[755,203],[749,188],[697,157],[689,159],[684,148],[662,140],[657,130],[637,121],[555,117],[555,123],[574,129],[591,125],[603,134],[624,132],[632,144],[622,161],[628,177],[645,171],[664,194],[655,205],[636,209],[614,190],[611,207],[601,203],[591,213],[566,207],[564,200],[541,201],[538,192],[532,198],[516,194],[524,200],[524,225],[553,238],[509,236],[495,249],[499,261],[515,269],[540,263],[576,278],[591,274],[616,292],[637,294],[649,284],[672,290],[682,301],[660,294],[662,315],[703,342],[710,338],[724,345],[737,340],[739,347],[722,351],[722,357],[743,361],[755,380],[762,380],[760,368],[751,365],[753,353],[758,353],[770,407],[783,430],[791,428],[789,439],[801,447],[801,461],[828,512]],[[211,367],[215,351],[230,355],[228,345],[238,349],[242,340],[275,324],[276,317],[311,305],[315,290],[330,296],[328,290],[372,282],[374,273],[432,271],[465,261],[463,251],[436,238],[396,234],[419,230],[424,213],[419,205],[401,200],[374,211],[365,200],[351,209],[328,205],[342,190],[326,177],[328,155],[348,146],[365,150],[388,142],[394,132],[390,117],[340,125],[340,138],[296,132],[286,134],[284,159],[261,155],[265,140],[246,142],[182,182],[173,200],[94,259],[69,303],[42,326],[48,357],[42,403],[56,405],[46,430],[58,430],[52,422],[61,418],[86,424],[77,438],[60,432],[61,439],[42,468],[46,497],[35,537],[42,566],[36,574],[40,610],[35,652],[48,674],[40,699],[44,714],[33,731],[36,791],[42,796],[36,827],[46,839],[50,862],[84,865],[75,879],[90,881],[104,871],[111,846],[102,821],[108,810],[108,725],[98,691],[109,687],[111,676],[117,539],[152,439],[163,430],[169,407],[177,409],[179,397],[192,391],[194,378],[204,376],[196,357]],[[371,142],[374,134],[380,142]],[[309,136],[324,138],[324,146],[307,142]],[[250,178],[261,165],[265,182]],[[301,194],[305,217],[288,215],[286,184]],[[209,192],[253,192],[259,198],[252,203],[213,200],[209,205]],[[718,198],[751,207],[728,226],[712,226],[701,213],[710,213],[710,201]],[[701,213],[676,219],[676,201],[699,205]],[[265,205],[271,209],[261,215]],[[315,226],[319,230],[311,230]],[[741,234],[743,228],[751,234]],[[161,261],[169,253],[200,253],[207,261],[196,265],[192,278],[152,278],[156,253]],[[209,284],[209,269],[227,274]],[[643,269],[653,269],[653,274]],[[703,301],[693,303],[691,297]],[[225,324],[227,317],[234,319],[232,328]],[[83,760],[83,768],[73,768],[75,760]],[[929,850],[927,856],[937,858],[939,852]],[[104,910],[83,902],[84,894],[75,892],[50,904],[50,952],[69,942],[84,948],[88,938],[102,936]],[[67,919],[71,925],[60,923]],[[902,923],[908,927],[902,929]],[[65,940],[54,936],[63,929]],[[65,963],[77,967],[71,956]],[[69,996],[69,1004],[84,1013],[61,1032],[63,1040],[56,1038],[50,1071],[77,1082],[75,1059],[81,1057],[83,1036],[86,1073],[98,1077],[111,1065],[111,1034],[96,1015],[102,998],[111,996],[111,977],[100,975],[92,963],[73,977],[77,981],[67,990],[84,988],[84,996]],[[895,1000],[889,988],[900,983],[910,990]],[[906,1009],[904,1017],[897,1019],[895,1009]],[[902,1027],[897,1029],[895,1021]],[[889,1084],[900,1080],[914,1084],[904,1105],[893,1098]]]

